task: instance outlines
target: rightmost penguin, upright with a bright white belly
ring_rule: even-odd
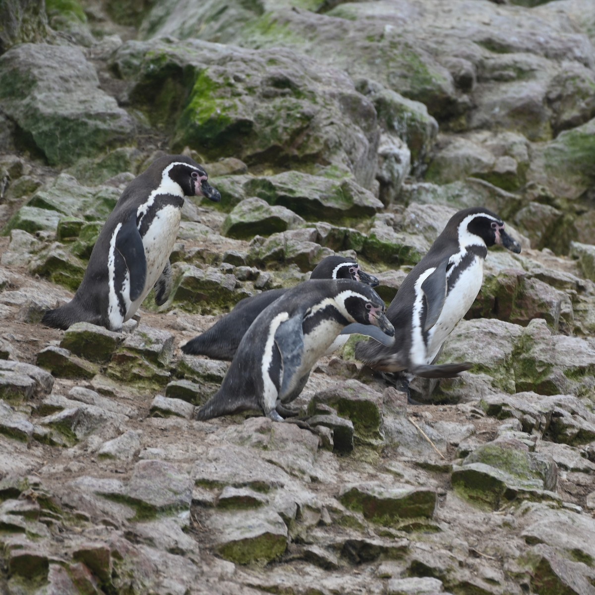
[[[493,212],[473,207],[453,215],[387,309],[396,328],[394,344],[358,342],[356,359],[381,372],[404,372],[409,379],[452,378],[471,368],[469,362],[434,362],[480,292],[487,249],[494,245],[521,252]]]

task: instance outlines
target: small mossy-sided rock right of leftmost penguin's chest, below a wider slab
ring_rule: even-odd
[[[227,215],[221,233],[238,239],[268,236],[299,227],[305,221],[284,206],[271,206],[260,198],[247,198]]]

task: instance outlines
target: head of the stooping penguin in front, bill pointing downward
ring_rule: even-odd
[[[371,287],[349,280],[338,283],[340,291],[335,301],[347,320],[372,324],[389,337],[394,336],[394,327],[384,314],[386,304]]]

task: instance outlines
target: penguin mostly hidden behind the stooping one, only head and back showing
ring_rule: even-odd
[[[378,285],[378,279],[365,273],[353,259],[343,256],[327,256],[310,275],[311,279],[354,279],[371,287]],[[271,289],[255,296],[245,297],[236,307],[209,330],[191,339],[181,347],[189,355],[206,355],[212,359],[231,361],[250,324],[268,305],[281,297],[287,289]],[[349,337],[337,337],[337,345],[342,346]],[[331,349],[331,347],[329,349]]]

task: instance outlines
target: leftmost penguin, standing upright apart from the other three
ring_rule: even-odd
[[[207,178],[201,165],[184,155],[164,155],[149,165],[118,199],[73,299],[46,311],[42,323],[65,330],[74,322],[91,322],[117,331],[152,287],[156,303],[165,303],[184,196],[221,200]]]

